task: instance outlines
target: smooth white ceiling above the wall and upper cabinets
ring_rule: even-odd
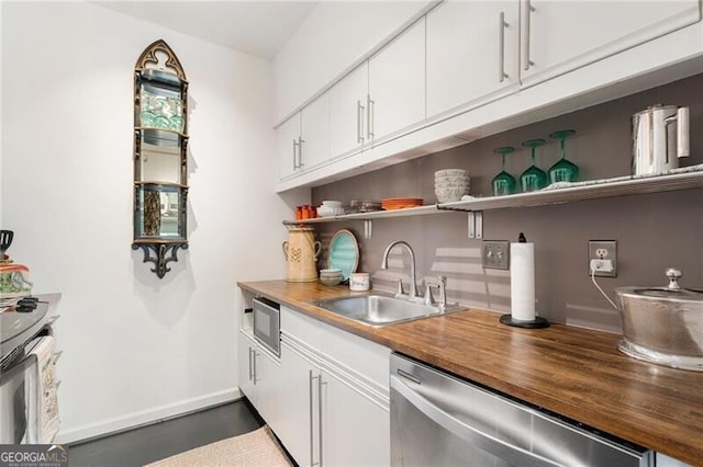
[[[96,1],[131,16],[272,59],[317,1]]]

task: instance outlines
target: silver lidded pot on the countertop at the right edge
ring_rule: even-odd
[[[682,288],[681,271],[666,287],[618,287],[625,354],[659,365],[703,372],[703,292]]]

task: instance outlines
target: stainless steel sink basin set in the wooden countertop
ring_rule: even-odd
[[[438,306],[419,304],[380,294],[328,298],[312,301],[312,305],[373,327],[394,324],[447,312],[447,310],[443,310]],[[449,311],[458,309],[461,309],[461,307],[451,307]]]

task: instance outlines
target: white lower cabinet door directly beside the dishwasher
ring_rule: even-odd
[[[322,459],[330,466],[389,466],[390,414],[352,386],[322,373]]]

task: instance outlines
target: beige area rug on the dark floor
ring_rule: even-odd
[[[264,425],[253,432],[197,447],[148,464],[146,467],[288,467],[291,465],[269,428]]]

